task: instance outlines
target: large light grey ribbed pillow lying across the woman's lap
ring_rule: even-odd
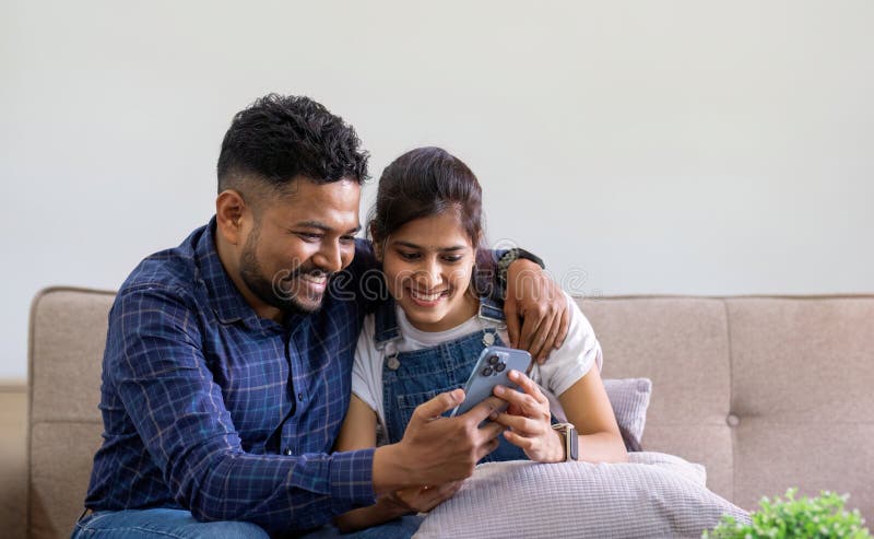
[[[700,537],[746,513],[705,488],[704,468],[671,455],[630,462],[489,462],[437,506],[416,537]],[[634,518],[629,518],[634,515]]]

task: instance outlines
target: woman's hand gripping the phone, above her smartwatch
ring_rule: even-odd
[[[523,392],[504,386],[495,387],[495,395],[510,406],[506,412],[492,419],[509,427],[504,432],[507,442],[525,452],[531,460],[564,461],[565,446],[562,435],[553,430],[550,422],[548,399],[531,378],[519,371],[510,371],[509,377]]]

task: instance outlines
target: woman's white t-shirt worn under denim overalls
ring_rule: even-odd
[[[531,373],[531,378],[550,398],[551,411],[559,420],[564,420],[564,413],[558,406],[557,397],[586,376],[593,364],[597,364],[600,371],[602,363],[601,344],[595,339],[591,324],[586,319],[577,303],[569,295],[565,294],[565,296],[570,309],[567,338],[562,348],[554,350],[546,362]],[[413,352],[491,328],[498,329],[500,339],[505,343],[509,343],[506,327],[503,324],[480,318],[479,315],[474,315],[452,329],[428,332],[413,327],[400,306],[395,305],[395,309],[400,338],[389,343],[385,350],[377,350],[374,345],[375,315],[368,315],[364,319],[364,328],[358,336],[355,364],[352,367],[352,392],[377,413],[380,425],[386,424],[382,407],[382,362],[387,351]]]

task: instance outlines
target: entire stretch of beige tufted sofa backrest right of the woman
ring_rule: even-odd
[[[706,466],[708,487],[849,493],[874,522],[874,296],[581,301],[604,376],[647,376],[643,447]]]

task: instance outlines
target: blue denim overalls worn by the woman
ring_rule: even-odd
[[[480,298],[480,318],[504,323],[500,304]],[[375,314],[374,343],[383,353],[382,407],[386,415],[386,436],[394,444],[403,437],[406,424],[418,405],[441,394],[464,386],[473,372],[480,353],[487,344],[503,347],[494,328],[441,342],[413,352],[398,352],[394,341],[401,338],[398,328],[395,303],[385,302]],[[449,412],[446,414],[448,415]],[[500,445],[481,462],[500,460],[528,460],[524,452],[499,436]]]

